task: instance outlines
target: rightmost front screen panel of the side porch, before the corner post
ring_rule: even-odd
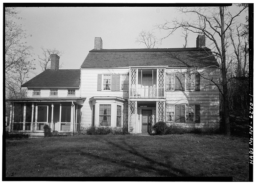
[[[70,106],[61,106],[61,131],[70,131],[71,126],[71,105]]]

